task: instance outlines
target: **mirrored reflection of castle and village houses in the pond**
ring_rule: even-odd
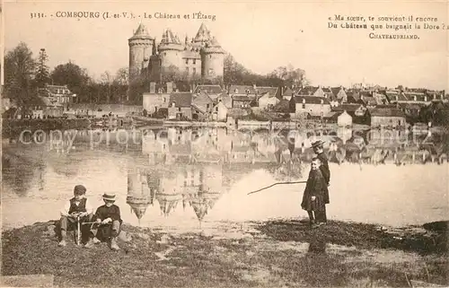
[[[268,170],[278,180],[303,179],[317,139],[326,141],[330,161],[339,163],[414,163],[430,155],[403,131],[390,131],[386,138],[346,128],[329,134],[181,127],[141,132],[145,157],[128,171],[127,197],[139,220],[149,205],[159,205],[165,216],[180,206],[193,209],[201,222],[231,185],[252,170]]]

